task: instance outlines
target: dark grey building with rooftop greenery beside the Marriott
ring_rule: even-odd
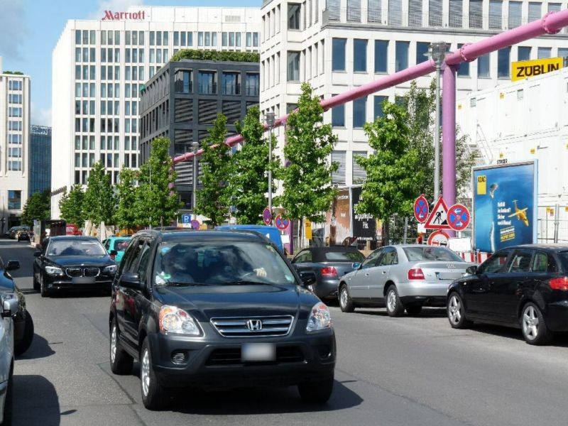
[[[165,65],[142,90],[140,97],[140,159],[146,161],[151,141],[165,136],[173,157],[192,151],[192,143],[207,137],[217,113],[227,117],[228,136],[248,108],[258,105],[258,62],[180,60]],[[176,165],[176,189],[191,209],[193,162]]]

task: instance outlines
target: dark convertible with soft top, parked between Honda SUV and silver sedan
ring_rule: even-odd
[[[339,280],[354,271],[353,263],[361,263],[365,256],[354,246],[310,247],[293,258],[297,271],[313,271],[316,282],[310,285],[317,297],[336,297]]]

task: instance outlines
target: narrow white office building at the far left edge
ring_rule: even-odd
[[[14,224],[28,200],[30,77],[3,72],[0,57],[0,233]]]

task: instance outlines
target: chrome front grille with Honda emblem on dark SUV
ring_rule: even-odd
[[[292,315],[280,315],[212,318],[211,323],[223,337],[273,337],[288,334],[293,320]]]

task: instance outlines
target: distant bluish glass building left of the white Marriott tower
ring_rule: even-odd
[[[51,188],[51,127],[31,126],[28,197]]]

